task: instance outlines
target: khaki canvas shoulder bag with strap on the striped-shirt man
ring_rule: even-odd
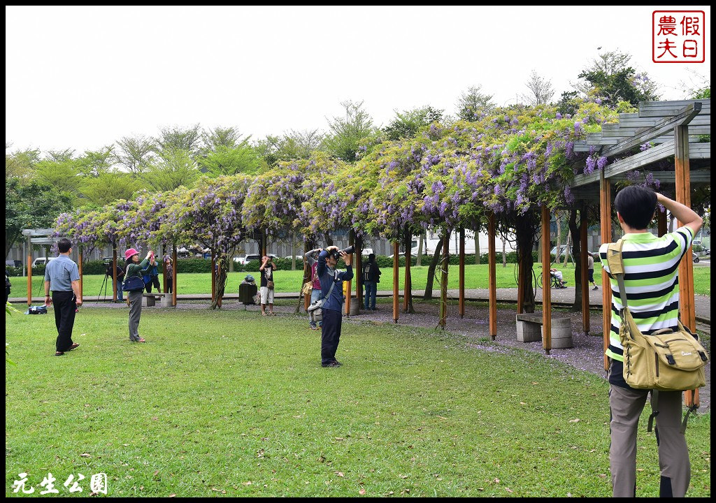
[[[619,296],[623,308],[619,313],[621,326],[619,340],[624,347],[624,381],[635,389],[650,389],[654,404],[649,416],[647,431],[652,431],[657,410],[659,391],[689,391],[706,385],[705,366],[709,355],[698,336],[678,320],[677,331],[662,328],[645,336],[634,322],[627,306],[627,290],[624,286],[624,261],[621,258],[621,239],[610,243],[606,258],[609,271],[619,284]],[[692,391],[693,392],[693,391]],[[682,431],[686,429],[692,406],[686,414]]]

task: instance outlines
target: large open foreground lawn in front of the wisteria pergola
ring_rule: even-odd
[[[132,344],[125,309],[87,308],[56,358],[52,314],[5,326],[6,496],[21,472],[35,495],[48,472],[60,494],[84,474],[82,495],[100,472],[112,496],[611,495],[606,382],[536,353],[344,323],[344,366],[321,368],[304,316],[145,310]],[[637,494],[654,497],[647,416]],[[707,497],[710,414],[687,438]]]

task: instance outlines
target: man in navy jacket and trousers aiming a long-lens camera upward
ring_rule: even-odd
[[[329,246],[318,255],[316,275],[321,282],[321,298],[326,298],[323,306],[321,306],[323,311],[321,366],[323,367],[339,367],[342,365],[341,362],[336,360],[336,351],[341,338],[341,311],[344,300],[343,282],[353,279],[351,253],[353,253],[352,247],[346,250],[338,250],[337,246]],[[336,270],[339,258],[343,258],[346,264],[344,272]],[[332,286],[333,289],[331,289]]]

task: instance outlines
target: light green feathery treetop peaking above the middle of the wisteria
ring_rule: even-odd
[[[341,103],[346,117],[329,119],[329,135],[324,138],[323,150],[345,162],[355,162],[359,157],[359,147],[365,147],[365,140],[377,137],[377,128],[373,119],[363,109],[363,102],[346,101]]]

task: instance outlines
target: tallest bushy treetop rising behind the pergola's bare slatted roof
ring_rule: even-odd
[[[631,54],[619,50],[599,54],[579,74],[581,81],[575,84],[576,89],[587,97],[606,99],[612,109],[619,102],[637,107],[641,101],[659,99],[657,83],[629,66],[631,60]]]

